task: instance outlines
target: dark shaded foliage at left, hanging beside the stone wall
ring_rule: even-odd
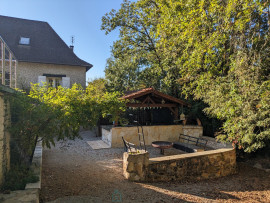
[[[53,140],[57,114],[24,92],[9,97],[11,108],[11,163],[29,164],[38,137]]]

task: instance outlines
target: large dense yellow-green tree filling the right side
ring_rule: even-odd
[[[270,140],[269,1],[163,1],[157,48],[181,67],[184,93],[209,105],[205,112],[224,121],[219,138],[246,152]]]

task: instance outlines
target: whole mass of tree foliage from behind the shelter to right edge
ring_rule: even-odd
[[[267,0],[124,1],[103,17],[107,33],[120,30],[106,69],[109,84],[173,87],[223,121],[219,139],[246,152],[263,148],[270,140],[269,6]],[[113,82],[118,78],[121,84]]]

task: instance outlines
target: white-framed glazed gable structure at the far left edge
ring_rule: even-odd
[[[17,68],[18,61],[8,45],[0,36],[0,84],[17,87]]]

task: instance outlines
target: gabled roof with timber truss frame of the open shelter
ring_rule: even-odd
[[[154,88],[127,92],[122,99],[128,100],[126,106],[130,108],[168,108],[173,113],[175,120],[179,120],[178,109],[180,106],[191,106],[183,100],[159,92]]]

